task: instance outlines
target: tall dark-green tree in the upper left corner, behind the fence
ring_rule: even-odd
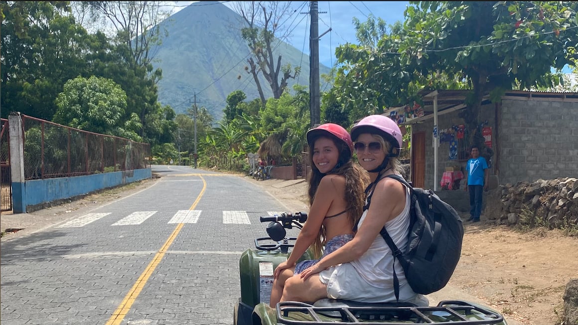
[[[54,3],[54,5],[53,5]],[[62,2],[1,2],[1,105],[51,120],[64,83],[88,76],[89,36]]]

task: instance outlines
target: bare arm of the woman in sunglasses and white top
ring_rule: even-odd
[[[399,215],[405,207],[405,187],[395,179],[386,178],[376,184],[365,220],[355,237],[301,273],[302,278],[328,267],[347,263],[362,256],[379,235],[387,221]]]

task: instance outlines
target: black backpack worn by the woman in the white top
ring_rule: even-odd
[[[416,293],[430,294],[446,286],[460,260],[464,227],[455,209],[442,201],[432,190],[413,187],[399,175],[386,177],[398,180],[410,189],[410,226],[405,252],[395,246],[386,227],[380,234],[401,263],[407,283]],[[375,180],[375,184],[380,178]],[[370,186],[369,186],[370,187]],[[368,187],[368,190],[369,190]],[[369,208],[372,193],[364,210]],[[394,268],[395,298],[399,300],[399,280]]]

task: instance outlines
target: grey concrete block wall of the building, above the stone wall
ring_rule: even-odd
[[[578,176],[578,102],[503,99],[499,183]]]

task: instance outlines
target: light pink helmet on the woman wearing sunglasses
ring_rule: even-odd
[[[353,139],[357,139],[362,133],[379,134],[398,149],[401,149],[403,143],[401,130],[399,130],[397,123],[383,115],[366,116],[351,128],[351,138]]]

